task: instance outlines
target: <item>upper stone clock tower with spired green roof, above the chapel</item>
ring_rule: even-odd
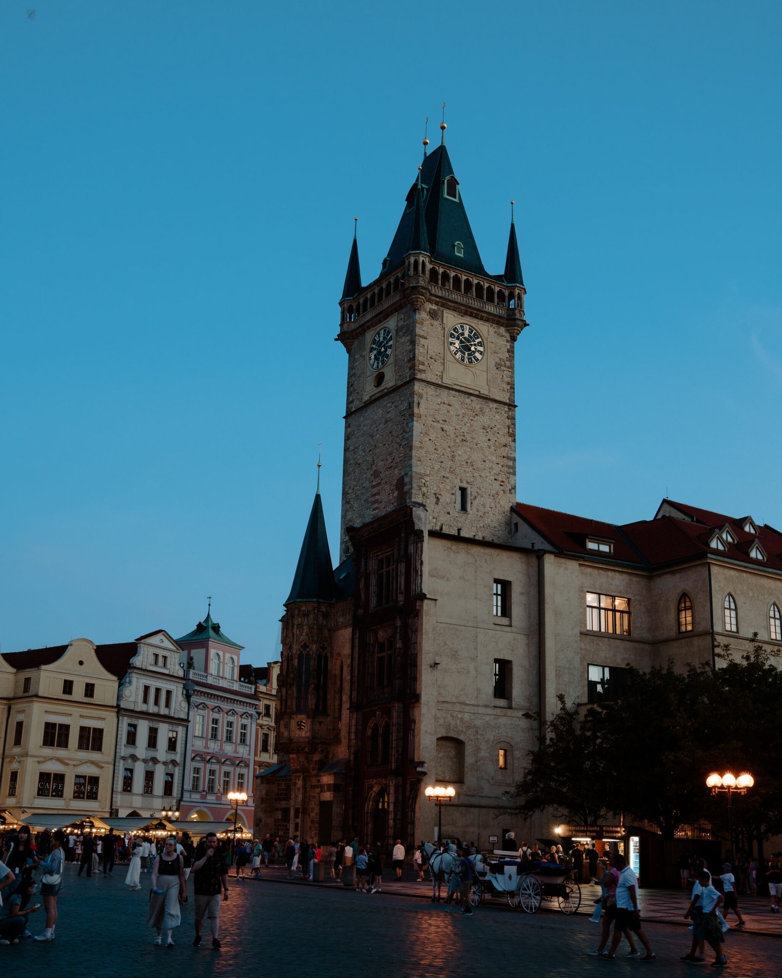
[[[368,286],[355,237],[350,254],[338,336],[349,355],[343,557],[351,528],[411,505],[428,529],[510,542],[524,293],[512,218],[504,271],[483,266],[443,130]]]

